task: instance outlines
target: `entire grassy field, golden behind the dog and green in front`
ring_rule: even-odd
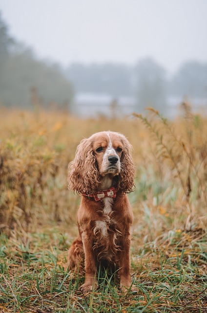
[[[159,112],[123,120],[81,120],[62,112],[1,109],[0,312],[207,312],[207,123],[184,104],[168,122]],[[136,189],[131,274],[78,291],[66,270],[80,198],[67,190],[67,164],[83,136],[112,130],[134,148]]]

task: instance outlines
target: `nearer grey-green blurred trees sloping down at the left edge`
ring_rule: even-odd
[[[0,102],[6,106],[32,106],[31,89],[41,103],[56,102],[65,108],[73,97],[72,84],[58,65],[38,61],[31,49],[8,35],[0,17]]]

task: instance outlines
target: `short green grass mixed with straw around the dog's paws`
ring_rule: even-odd
[[[57,227],[18,240],[1,235],[1,312],[206,312],[207,235],[202,229],[132,244],[137,293],[126,295],[117,277],[107,274],[98,275],[97,291],[78,291],[83,276],[63,268],[66,237]]]

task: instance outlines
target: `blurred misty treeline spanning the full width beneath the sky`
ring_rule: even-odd
[[[62,69],[37,60],[31,49],[8,35],[0,17],[0,103],[21,107],[56,103],[69,109],[74,92],[134,96],[139,111],[146,106],[163,111],[170,97],[207,99],[207,63],[186,62],[171,77],[150,58],[131,67],[77,63]]]

